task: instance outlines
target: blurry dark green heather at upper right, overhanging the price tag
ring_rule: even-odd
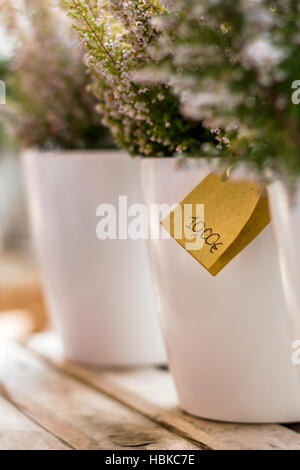
[[[299,2],[172,4],[152,23],[160,33],[149,50],[155,66],[143,76],[172,85],[183,114],[215,134],[219,155],[298,174]]]

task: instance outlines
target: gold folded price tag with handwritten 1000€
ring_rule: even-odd
[[[222,181],[211,173],[162,225],[216,276],[269,222],[268,199],[255,182]]]

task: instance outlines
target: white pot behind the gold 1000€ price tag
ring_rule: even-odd
[[[211,171],[200,165],[144,159],[147,205],[183,200]],[[299,421],[300,380],[271,225],[215,278],[174,239],[150,240],[150,251],[181,407],[213,420]]]

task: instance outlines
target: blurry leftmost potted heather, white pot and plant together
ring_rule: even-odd
[[[65,355],[98,365],[164,363],[146,242],[96,235],[99,205],[117,205],[120,195],[141,200],[138,164],[103,150],[113,145],[65,11],[46,0],[4,7],[17,38],[6,123],[29,148],[29,208]]]

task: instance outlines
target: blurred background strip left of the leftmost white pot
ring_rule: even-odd
[[[0,25],[0,80],[5,81],[12,55],[12,39]],[[0,105],[0,113],[4,106]],[[48,324],[30,239],[19,153],[0,123],[0,339],[21,338]]]

